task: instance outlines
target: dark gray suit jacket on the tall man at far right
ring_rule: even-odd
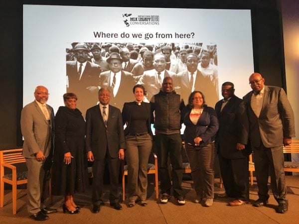
[[[265,86],[264,101],[260,116],[251,108],[253,91],[244,96],[250,123],[250,140],[259,147],[261,140],[270,148],[283,144],[284,137],[295,137],[295,119],[286,92],[275,86]]]

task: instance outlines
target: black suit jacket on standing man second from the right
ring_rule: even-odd
[[[234,95],[222,111],[221,106],[222,100],[215,105],[215,112],[219,120],[219,130],[216,135],[218,153],[227,159],[247,157],[251,152],[251,148],[247,144],[249,123],[244,102]],[[245,144],[245,149],[237,150],[237,143]]]

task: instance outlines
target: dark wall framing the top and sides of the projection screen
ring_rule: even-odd
[[[109,3],[94,0],[1,0],[0,150],[17,148],[22,144],[19,118],[22,109],[23,3],[251,9],[255,71],[266,78],[268,85],[286,88],[280,0],[126,0]],[[111,13],[113,16],[113,12]],[[74,22],[76,18],[67,19]],[[188,18],[185,18],[185,21],[192,22],[188,21]],[[238,52],[235,54],[238,57]],[[34,90],[32,90],[32,100],[33,92]]]

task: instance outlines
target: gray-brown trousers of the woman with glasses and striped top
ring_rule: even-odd
[[[185,144],[195,192],[199,198],[214,198],[214,142],[197,148]]]

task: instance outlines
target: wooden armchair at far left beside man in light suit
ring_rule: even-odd
[[[3,207],[4,183],[12,186],[12,214],[16,214],[16,187],[27,183],[27,171],[17,172],[12,164],[25,163],[22,156],[22,148],[0,151],[0,207]],[[4,174],[4,168],[11,170],[11,173]]]

